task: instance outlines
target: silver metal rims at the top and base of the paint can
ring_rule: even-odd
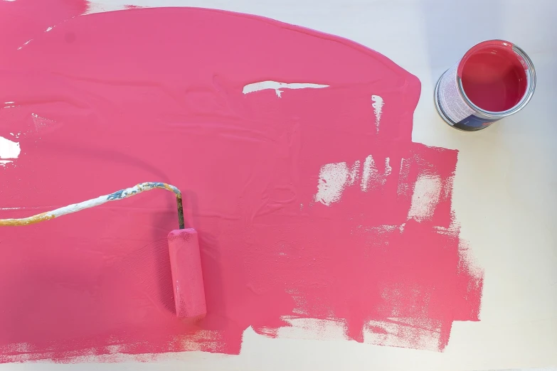
[[[526,67],[525,70],[527,71],[526,91],[524,92],[523,97],[521,97],[521,100],[519,100],[519,102],[514,104],[514,106],[511,107],[510,109],[506,109],[501,112],[488,111],[487,109],[482,109],[478,107],[477,104],[474,104],[474,102],[472,102],[472,100],[470,100],[470,98],[467,97],[464,87],[462,86],[462,79],[460,78],[459,75],[456,75],[454,82],[462,102],[464,102],[467,105],[467,107],[470,108],[472,112],[474,112],[474,114],[477,114],[479,117],[489,120],[489,124],[486,124],[483,127],[480,127],[478,129],[463,129],[462,127],[459,127],[458,122],[453,121],[452,119],[450,119],[450,117],[447,116],[447,114],[445,114],[445,112],[443,112],[443,109],[439,102],[440,85],[443,80],[443,77],[448,77],[446,75],[449,70],[451,70],[452,68],[460,68],[460,66],[463,63],[463,60],[465,60],[468,53],[474,50],[474,48],[477,48],[487,43],[502,43],[503,45],[511,46],[511,49],[514,51],[514,53],[516,53],[521,63],[523,63],[523,65],[526,65],[525,66]],[[532,95],[534,95],[534,90],[536,89],[536,70],[534,69],[534,63],[532,63],[531,59],[524,52],[524,50],[519,48],[517,45],[510,43],[509,41],[494,39],[494,40],[487,40],[487,41],[482,41],[481,43],[477,43],[476,45],[472,46],[472,48],[470,48],[467,51],[467,53],[465,53],[465,55],[462,58],[460,58],[460,60],[452,68],[445,70],[445,72],[443,72],[442,75],[439,77],[439,80],[437,80],[437,83],[435,84],[435,92],[434,92],[433,100],[435,102],[435,109],[437,109],[437,113],[440,115],[443,121],[445,121],[451,127],[458,129],[460,131],[479,131],[489,127],[493,122],[499,121],[499,119],[502,119],[504,117],[510,116],[511,114],[515,114],[516,112],[519,112],[521,109],[526,107],[526,104],[528,104],[528,102],[531,100]]]

